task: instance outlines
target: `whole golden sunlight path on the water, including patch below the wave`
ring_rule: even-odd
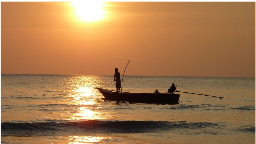
[[[72,79],[72,92],[69,93],[73,98],[69,104],[75,105],[73,109],[76,109],[76,113],[72,113],[68,120],[97,120],[106,119],[104,112],[99,109],[102,108],[101,97],[95,92],[93,88],[95,85],[88,85],[88,83],[95,82],[97,78],[91,76],[81,76]],[[69,144],[93,144],[98,143],[105,139],[112,139],[112,137],[99,137],[99,136],[69,136]]]

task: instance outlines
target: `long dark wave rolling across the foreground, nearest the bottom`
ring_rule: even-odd
[[[196,129],[219,127],[207,122],[168,122],[168,121],[82,121],[82,122],[2,122],[1,135],[47,135],[49,131],[65,133],[150,133],[161,130]]]

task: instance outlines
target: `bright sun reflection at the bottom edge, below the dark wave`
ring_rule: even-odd
[[[92,144],[93,142],[99,142],[104,139],[112,139],[111,137],[92,137],[92,136],[70,136],[72,142],[69,144]]]

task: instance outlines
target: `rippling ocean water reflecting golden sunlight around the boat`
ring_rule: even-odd
[[[115,90],[113,77],[1,74],[1,143],[255,143],[255,78],[124,76],[125,92],[224,97],[146,104],[104,100],[95,87]]]

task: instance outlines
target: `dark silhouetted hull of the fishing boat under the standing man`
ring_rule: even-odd
[[[98,89],[106,100],[126,101],[130,103],[163,103],[177,104],[180,94],[171,93],[128,93],[128,92],[112,92],[109,90]]]

